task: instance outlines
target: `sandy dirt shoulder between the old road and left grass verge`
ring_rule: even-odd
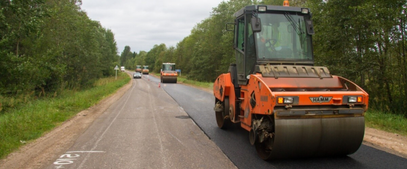
[[[132,82],[103,99],[99,104],[79,112],[41,138],[22,146],[18,151],[0,160],[0,168],[43,168],[50,165],[57,156],[65,153],[72,146],[96,118],[122,97],[132,86]]]

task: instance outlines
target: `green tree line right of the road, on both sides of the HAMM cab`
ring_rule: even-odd
[[[282,6],[283,0],[230,0],[213,8],[176,47],[157,44],[133,54],[129,65],[173,62],[189,79],[213,82],[235,62],[232,15],[247,5]],[[406,0],[306,0],[290,6],[311,9],[315,65],[347,78],[369,93],[370,108],[407,115]],[[130,48],[130,47],[129,47]],[[123,53],[122,53],[123,54]]]

